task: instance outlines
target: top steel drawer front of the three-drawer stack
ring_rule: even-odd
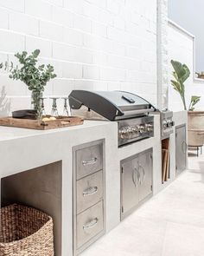
[[[103,168],[103,145],[76,151],[77,180]]]

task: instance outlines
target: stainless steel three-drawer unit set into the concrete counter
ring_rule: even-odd
[[[73,255],[105,233],[104,141],[73,148]]]

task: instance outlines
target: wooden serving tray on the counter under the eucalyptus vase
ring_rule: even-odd
[[[81,125],[84,119],[80,116],[59,116],[56,120],[41,121],[31,119],[19,119],[13,117],[1,117],[0,126],[29,128],[38,130],[48,130],[53,128],[65,128],[70,126]]]

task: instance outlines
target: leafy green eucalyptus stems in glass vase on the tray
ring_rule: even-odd
[[[20,63],[20,67],[14,67],[11,62],[0,64],[0,69],[10,69],[10,78],[13,80],[20,80],[24,82],[28,89],[31,91],[32,105],[35,109],[36,118],[41,119],[41,98],[47,82],[56,77],[54,74],[54,67],[48,65],[38,65],[38,56],[40,55],[40,49],[35,49],[31,55],[28,55],[26,51],[22,53],[16,53],[16,58]]]

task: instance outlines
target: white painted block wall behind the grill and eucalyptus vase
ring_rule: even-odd
[[[0,0],[0,38],[0,62],[41,49],[54,65],[45,95],[123,89],[157,103],[156,0]],[[0,92],[0,115],[30,107],[26,86],[4,71]]]

